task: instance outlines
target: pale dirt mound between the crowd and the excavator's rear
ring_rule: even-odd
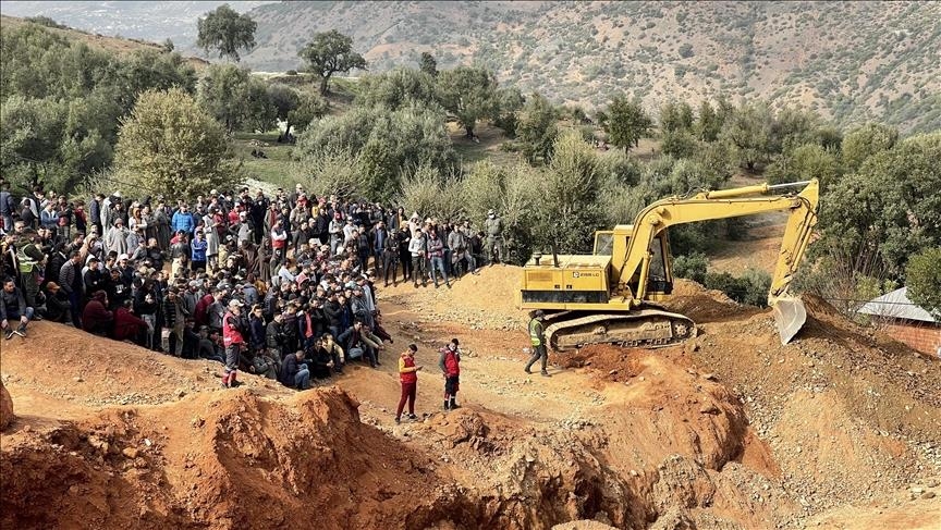
[[[382,289],[382,298],[407,306],[429,321],[460,322],[472,330],[522,330],[527,316],[516,307],[522,268],[498,264],[479,269],[479,274],[452,279],[451,289],[415,288],[400,283]],[[420,285],[420,284],[419,284]]]

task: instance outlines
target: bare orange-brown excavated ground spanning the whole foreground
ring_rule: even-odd
[[[492,296],[514,272],[505,269],[462,280],[454,292]],[[553,377],[541,379],[521,369],[518,315],[481,311],[478,299],[456,305],[443,289],[390,287],[382,310],[395,343],[382,367],[357,366],[301,393],[254,375],[225,391],[209,362],[40,322],[0,353],[16,414],[0,437],[0,526],[751,529],[882,520],[914,529],[941,520],[937,498],[922,498],[941,470],[936,361],[818,303],[796,343],[781,346],[767,311],[684,288],[676,308],[701,322],[695,341],[585,348],[553,357]],[[465,349],[463,407],[444,412],[435,349],[451,336]],[[408,342],[426,366],[424,414],[395,424],[394,356]]]

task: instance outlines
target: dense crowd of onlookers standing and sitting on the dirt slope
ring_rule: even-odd
[[[351,361],[381,365],[392,337],[378,284],[450,287],[499,261],[503,226],[489,213],[484,232],[465,220],[308,196],[301,185],[272,196],[243,187],[170,201],[115,192],[86,202],[39,185],[14,197],[0,182],[2,333],[25,338],[29,321],[46,319],[216,360],[227,387],[248,371],[306,389]],[[456,363],[444,366],[447,350],[450,408]]]

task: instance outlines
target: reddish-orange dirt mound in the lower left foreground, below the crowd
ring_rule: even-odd
[[[2,526],[407,527],[441,479],[356,407],[337,389],[278,402],[239,390],[20,439],[3,449]]]

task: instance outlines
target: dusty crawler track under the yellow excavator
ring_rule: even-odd
[[[601,315],[563,311],[549,315],[546,321],[546,337],[557,352],[591,344],[659,348],[696,336],[696,324],[689,318],[659,309]]]

